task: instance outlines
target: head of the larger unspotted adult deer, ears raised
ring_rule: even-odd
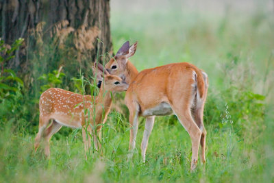
[[[137,43],[135,42],[133,45],[129,46],[129,42],[125,42],[123,46],[117,51],[114,58],[112,58],[107,64],[105,64],[105,69],[108,73],[112,75],[118,75],[123,80],[128,77],[126,65],[128,58],[134,55]]]

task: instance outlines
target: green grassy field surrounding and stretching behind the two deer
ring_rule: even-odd
[[[273,14],[227,10],[216,16],[176,4],[147,11],[121,7],[113,8],[111,27],[114,51],[125,40],[139,41],[132,58],[139,71],[184,61],[208,73],[206,164],[190,173],[190,138],[175,117],[156,119],[145,164],[143,119],[128,162],[127,114],[110,114],[103,127],[103,158],[95,153],[88,160],[81,130],[55,134],[47,160],[41,149],[34,153],[34,134],[27,125],[14,127],[21,120],[14,118],[0,128],[0,182],[274,181]]]

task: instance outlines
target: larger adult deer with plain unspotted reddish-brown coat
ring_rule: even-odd
[[[175,114],[184,126],[192,141],[191,171],[197,167],[199,144],[201,160],[206,162],[206,129],[203,126],[203,106],[208,92],[208,76],[193,64],[186,62],[167,64],[138,73],[128,58],[134,55],[137,42],[129,47],[129,42],[119,49],[105,69],[113,75],[119,75],[129,83],[125,103],[129,109],[129,123],[132,125],[129,150],[136,145],[138,117],[146,118],[142,138],[142,160],[155,116]],[[132,156],[132,154],[129,154]]]

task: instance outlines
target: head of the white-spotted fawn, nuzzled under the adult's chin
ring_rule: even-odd
[[[103,65],[96,63],[92,66],[93,75],[97,80],[97,86],[104,90],[112,92],[122,92],[127,90],[128,84],[124,82],[121,77],[116,75],[110,75],[106,69],[103,68]],[[103,86],[101,86],[103,85]]]

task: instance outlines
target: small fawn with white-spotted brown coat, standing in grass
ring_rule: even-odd
[[[108,71],[98,64],[98,69],[92,66],[93,74],[96,75],[101,87],[99,95],[79,95],[60,88],[49,88],[40,96],[39,103],[39,132],[35,139],[35,150],[38,148],[41,138],[45,138],[45,155],[49,156],[49,140],[62,126],[82,127],[82,136],[86,151],[90,148],[90,134],[93,136],[95,148],[98,143],[95,130],[100,138],[100,123],[105,123],[112,105],[111,93],[127,90],[128,84],[121,77],[110,75]],[[95,113],[94,113],[95,112]],[[52,123],[49,125],[50,121]],[[47,127],[49,125],[49,127]],[[86,132],[90,134],[86,134]],[[86,138],[88,137],[88,139]]]

